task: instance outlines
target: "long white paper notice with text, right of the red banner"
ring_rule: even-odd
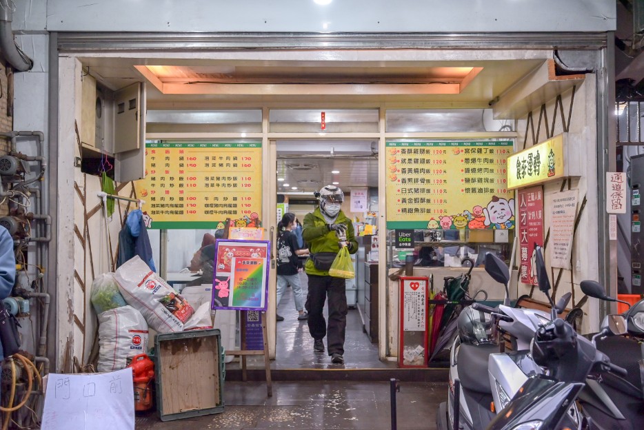
[[[572,233],[577,209],[577,190],[556,192],[547,196],[550,207],[550,264],[570,269]]]

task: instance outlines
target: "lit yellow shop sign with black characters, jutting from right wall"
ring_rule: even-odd
[[[566,164],[567,134],[559,134],[545,142],[527,148],[507,158],[507,187],[523,188],[529,185],[574,176]]]

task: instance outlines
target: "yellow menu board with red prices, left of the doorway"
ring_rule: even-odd
[[[261,143],[146,143],[135,181],[154,229],[261,227]]]

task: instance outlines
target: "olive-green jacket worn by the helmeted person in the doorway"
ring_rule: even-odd
[[[340,211],[334,223],[347,226],[347,242],[350,243],[349,253],[355,254],[358,252],[358,241],[356,240],[351,220],[345,216],[344,212]],[[338,236],[333,230],[329,229],[328,223],[320,213],[319,207],[316,207],[310,214],[306,214],[303,227],[302,237],[308,243],[311,254],[316,252],[340,252]],[[310,258],[306,260],[304,271],[309,275],[328,276],[329,274],[329,272],[316,269],[313,265],[313,260]]]

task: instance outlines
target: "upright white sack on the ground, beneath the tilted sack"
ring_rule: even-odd
[[[99,314],[99,372],[125,369],[129,360],[148,351],[148,323],[131,306]]]

